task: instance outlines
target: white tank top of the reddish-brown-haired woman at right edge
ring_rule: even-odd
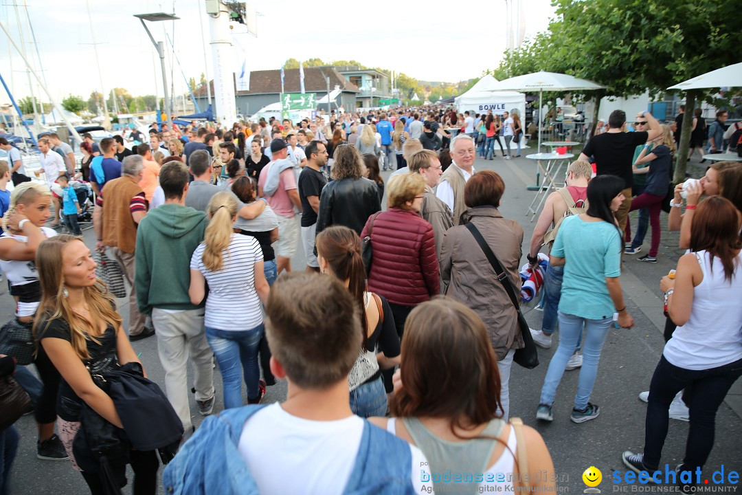
[[[686,370],[709,370],[742,359],[742,253],[731,283],[719,258],[712,265],[705,250],[695,254],[703,280],[693,289],[690,318],[675,329],[663,355]]]

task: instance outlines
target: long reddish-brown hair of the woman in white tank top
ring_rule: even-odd
[[[731,281],[735,258],[740,249],[740,212],[731,201],[721,196],[709,196],[698,203],[691,223],[691,252],[706,249],[721,260],[724,278]],[[714,259],[711,260],[714,268]]]

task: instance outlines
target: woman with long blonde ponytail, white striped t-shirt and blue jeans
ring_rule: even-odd
[[[250,235],[235,234],[237,198],[217,192],[206,207],[209,226],[191,258],[191,302],[206,296],[206,338],[217,357],[224,384],[224,407],[240,407],[242,376],[248,404],[259,404],[266,393],[260,380],[257,353],[263,336],[263,312],[269,286],[263,272],[263,251]]]

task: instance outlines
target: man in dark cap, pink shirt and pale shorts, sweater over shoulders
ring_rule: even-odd
[[[299,242],[299,223],[296,212],[301,212],[301,198],[297,190],[294,163],[288,160],[286,142],[282,139],[271,141],[272,161],[260,171],[257,180],[260,197],[266,197],[269,206],[278,215],[278,240],[274,244],[278,275],[281,270],[291,271],[291,257]],[[276,174],[278,172],[278,174]],[[275,176],[278,185],[274,188]],[[269,180],[269,176],[270,179]]]

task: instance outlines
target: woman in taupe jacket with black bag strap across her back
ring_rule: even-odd
[[[448,286],[446,295],[473,309],[485,322],[490,343],[499,359],[500,401],[505,412],[503,416],[508,419],[510,367],[516,349],[524,347],[525,343],[518,325],[518,309],[503,283],[509,281],[515,293],[520,293],[523,229],[499,212],[504,192],[505,182],[496,172],[485,170],[471,176],[464,186],[464,203],[469,209],[462,213],[462,224],[448,229],[443,237],[440,266],[441,279]],[[495,268],[467,227],[468,223],[484,237],[508,275],[507,280],[499,281]]]

